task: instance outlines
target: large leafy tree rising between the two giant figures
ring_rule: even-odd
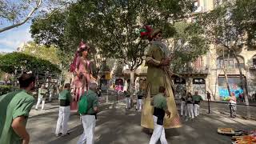
[[[42,30],[46,31],[41,31],[41,28],[38,28],[38,23],[42,23],[40,20],[34,21],[31,31],[36,40],[46,36],[45,38],[50,38],[46,42],[54,42],[54,39],[57,39],[58,42],[54,43],[63,44],[63,39],[67,39],[69,43],[65,50],[74,50],[74,44],[77,45],[81,39],[86,40],[98,48],[103,58],[118,58],[126,63],[131,72],[130,83],[133,85],[134,71],[142,64],[144,50],[148,46],[146,39],[139,37],[138,30],[143,25],[150,25],[162,28],[166,38],[170,38],[175,32],[171,22],[181,19],[192,10],[191,6],[190,0],[81,1],[65,10],[66,17],[56,18],[59,24],[64,24],[61,25],[63,27],[57,27],[56,23],[54,25],[57,29],[54,35],[63,32],[60,34],[61,38],[59,35],[58,38],[50,37],[53,27],[47,30],[46,26],[43,26]]]

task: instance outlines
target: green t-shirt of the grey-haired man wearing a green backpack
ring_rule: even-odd
[[[86,95],[89,107],[87,114],[95,114],[94,107],[98,106],[98,95],[93,90],[88,90]]]

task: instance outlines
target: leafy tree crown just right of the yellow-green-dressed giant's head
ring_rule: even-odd
[[[198,23],[175,22],[174,30],[176,33],[170,39],[175,55],[171,70],[180,74],[188,68],[186,66],[188,62],[194,62],[198,56],[206,54],[209,45],[202,36],[202,29]]]

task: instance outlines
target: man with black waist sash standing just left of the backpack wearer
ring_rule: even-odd
[[[58,121],[56,126],[55,134],[56,136],[65,136],[69,133],[67,132],[67,122],[70,119],[70,102],[72,100],[70,93],[70,83],[66,83],[64,90],[59,94],[59,112]],[[62,131],[61,131],[62,130]]]

